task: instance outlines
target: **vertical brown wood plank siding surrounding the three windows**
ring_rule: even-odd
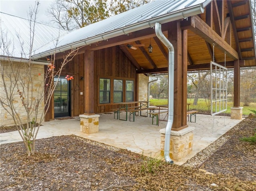
[[[126,57],[119,47],[109,47],[94,52],[95,77],[94,77],[94,112],[110,112],[111,108],[118,107],[112,103],[100,104],[99,101],[99,79],[111,79],[111,95],[113,98],[113,79],[134,80],[134,98],[137,94],[137,74],[136,68]],[[113,99],[111,99],[113,102]]]

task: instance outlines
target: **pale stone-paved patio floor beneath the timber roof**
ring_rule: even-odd
[[[124,113],[122,113],[122,115],[124,115]],[[164,116],[161,117],[163,118]],[[174,163],[182,165],[240,121],[241,120],[230,119],[228,116],[213,117],[210,115],[197,114],[196,123],[188,122],[189,126],[194,127],[192,153],[182,159],[182,161],[174,161]],[[93,134],[80,132],[79,123],[79,118],[44,122],[39,130],[38,139],[74,134],[145,156],[163,158],[160,155],[161,141],[159,131],[166,127],[165,121],[160,121],[159,126],[157,126],[152,125],[152,118],[149,116],[136,116],[135,122],[130,122],[114,119],[113,113],[100,114],[100,131]],[[22,141],[17,131],[0,134],[0,140],[1,144]]]

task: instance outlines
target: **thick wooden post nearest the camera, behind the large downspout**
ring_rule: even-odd
[[[184,107],[186,109],[186,104],[184,103],[186,103],[186,101],[184,100],[183,89],[186,89],[187,84],[186,87],[184,87],[184,79],[186,78],[184,78],[183,73],[184,65],[182,63],[182,59],[184,59],[184,57],[182,56],[182,30],[180,28],[180,22],[172,22],[170,24],[168,40],[174,46],[174,121],[172,124],[172,130],[179,131],[188,127],[185,122],[186,114],[184,113]]]

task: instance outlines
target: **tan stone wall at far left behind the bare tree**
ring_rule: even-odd
[[[8,69],[8,63],[4,63],[1,61],[1,67],[4,66],[4,71],[6,71],[7,74],[9,74],[11,72],[11,69]],[[24,67],[24,63],[14,63],[12,64],[13,67],[15,67],[13,70],[17,71],[18,70],[18,65],[21,66],[20,68],[20,74],[22,75],[22,79],[26,80],[26,77],[28,75],[28,71],[26,71],[26,67]],[[4,72],[5,73],[5,72]],[[44,83],[44,65],[37,65],[34,64],[32,67],[32,79],[33,79],[33,96],[32,96],[32,100],[36,100],[37,97],[42,97],[43,95],[43,83]],[[8,77],[5,77],[5,81],[6,82],[10,82],[10,79],[8,79]],[[22,91],[20,89],[20,91]],[[3,87],[3,83],[2,83],[2,76],[0,76],[0,96],[1,99],[5,98],[6,95],[4,93],[4,87]],[[29,95],[29,97],[31,97],[31,93]],[[27,113],[26,110],[24,108],[24,106],[22,106],[22,101],[20,99],[20,95],[18,93],[18,89],[15,87],[14,88],[14,107],[15,110],[18,112],[18,115],[20,116],[22,122],[26,123],[26,119],[27,119]],[[44,112],[44,99],[40,102],[40,106],[39,106],[39,113],[38,116],[41,116],[41,114]],[[14,125],[14,120],[12,119],[12,116],[10,116],[10,114],[8,114],[8,112],[6,112],[6,110],[2,107],[2,105],[0,105],[0,125],[1,126],[11,126]]]

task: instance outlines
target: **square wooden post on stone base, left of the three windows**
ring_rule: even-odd
[[[94,51],[84,53],[84,114],[94,115]]]

